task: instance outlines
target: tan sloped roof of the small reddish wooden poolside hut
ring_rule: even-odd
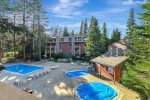
[[[127,59],[128,57],[126,56],[99,56],[92,59],[91,62],[115,68]]]

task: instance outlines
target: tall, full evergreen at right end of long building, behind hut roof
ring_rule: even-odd
[[[90,30],[86,41],[86,54],[93,58],[101,54],[100,50],[100,29],[97,19],[92,16]]]

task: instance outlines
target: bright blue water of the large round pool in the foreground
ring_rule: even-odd
[[[82,84],[76,92],[81,100],[112,100],[117,96],[115,89],[100,82]]]

